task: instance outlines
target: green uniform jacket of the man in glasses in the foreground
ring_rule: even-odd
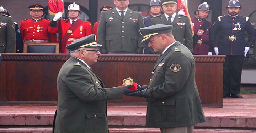
[[[103,88],[92,70],[75,57],[57,79],[58,106],[54,133],[108,133],[107,102],[123,98],[122,87]]]

